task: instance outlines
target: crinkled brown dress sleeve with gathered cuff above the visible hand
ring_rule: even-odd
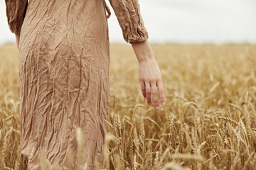
[[[149,38],[140,13],[138,0],[109,0],[122,28],[124,40],[143,42]]]

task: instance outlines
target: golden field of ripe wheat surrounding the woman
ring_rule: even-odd
[[[166,97],[158,110],[142,95],[132,47],[111,45],[105,169],[256,169],[256,45],[151,47]],[[0,46],[0,61],[0,169],[28,169],[16,46]]]

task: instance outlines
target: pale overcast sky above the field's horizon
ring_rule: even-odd
[[[139,0],[139,5],[149,42],[256,44],[255,0]],[[111,6],[110,10],[110,42],[127,43]],[[0,0],[0,44],[4,42],[15,42],[15,36]]]

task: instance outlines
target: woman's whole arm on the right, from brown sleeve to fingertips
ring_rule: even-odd
[[[159,66],[148,42],[148,31],[140,13],[139,0],[110,0],[110,4],[122,28],[124,40],[132,44],[139,61],[139,81],[142,94],[151,105],[151,93],[154,106],[159,108],[158,91],[164,104],[164,88]]]

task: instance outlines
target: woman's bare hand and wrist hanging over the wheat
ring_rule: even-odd
[[[139,61],[139,81],[142,86],[142,94],[151,105],[151,93],[156,109],[159,108],[158,91],[161,104],[164,105],[164,87],[159,66],[154,58],[153,51],[146,40],[132,43],[132,47]]]

